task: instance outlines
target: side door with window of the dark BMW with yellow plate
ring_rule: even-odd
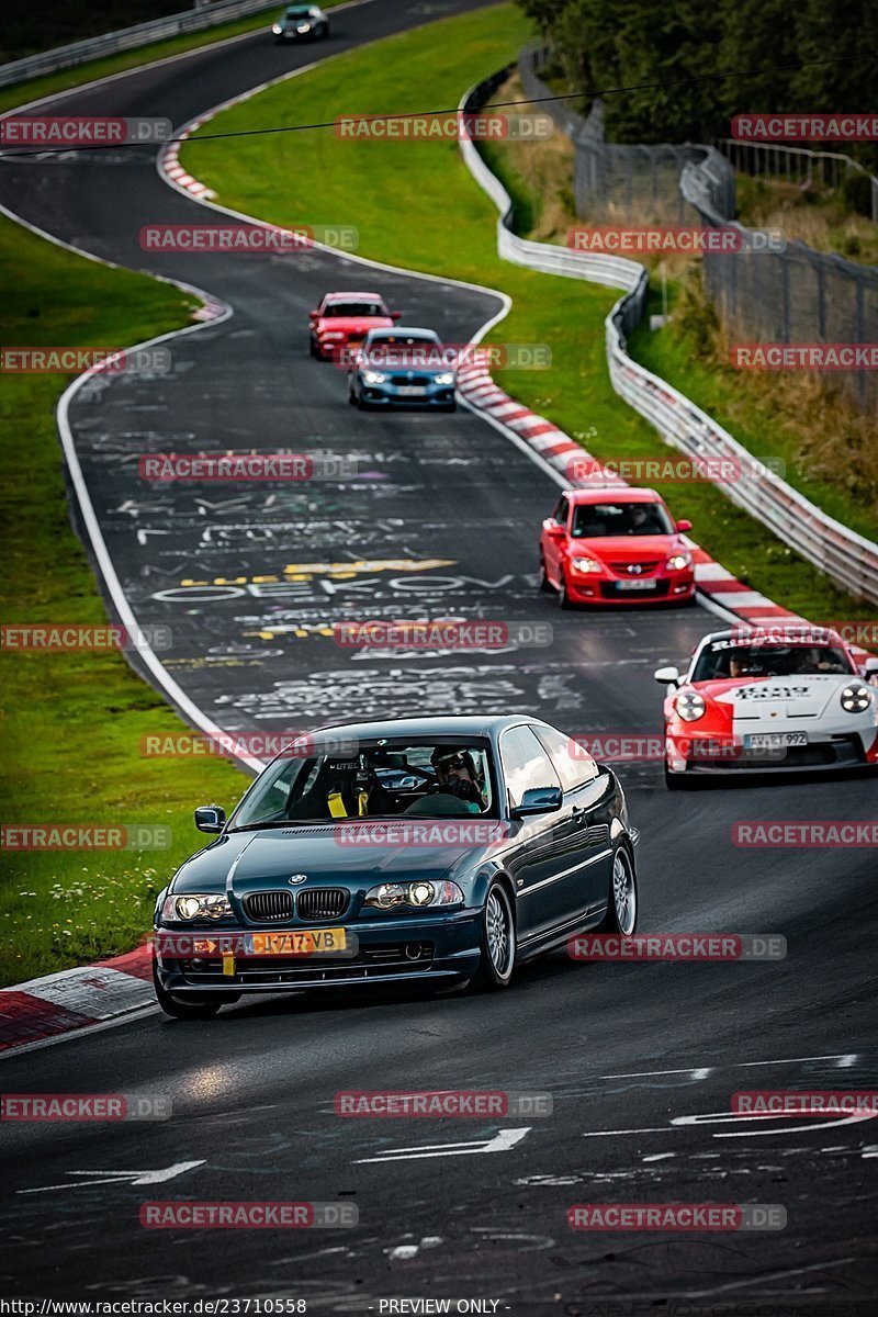
[[[527,723],[507,728],[500,736],[500,766],[509,809],[515,810],[524,793],[534,788],[561,789],[561,778],[549,755]],[[516,889],[517,936],[523,950],[538,940],[561,919],[558,876],[574,828],[571,806],[529,815],[513,822],[520,846],[508,861]]]

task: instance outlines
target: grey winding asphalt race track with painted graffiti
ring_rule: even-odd
[[[259,33],[66,94],[53,112],[180,125],[297,61],[474,7],[371,0],[333,16],[325,45],[278,49]],[[80,390],[70,414],[137,619],[171,627],[162,661],[211,719],[228,731],[290,731],[382,712],[532,711],[574,734],[657,732],[653,669],[682,660],[717,619],[700,607],[561,612],[536,589],[552,478],[465,410],[358,414],[345,377],[307,353],[307,311],[328,288],[375,287],[405,321],[452,341],[495,315],[496,298],[319,250],[147,255],[141,225],[212,220],[161,182],[147,149],[112,162],[100,153],[3,159],[0,200],[87,252],[190,282],[233,308],[167,344],[170,375]],[[215,489],[138,478],[145,453],[283,448],[357,458],[358,478]],[[348,562],[357,565],[340,566]],[[266,577],[276,579],[257,579]],[[404,657],[354,653],[319,633],[337,620],[440,615],[550,622],[554,643]],[[874,1127],[728,1117],[738,1089],[878,1087],[874,856],[731,840],[738,819],[870,818],[874,780],[670,797],[656,763],[623,765],[620,776],[642,830],[640,931],[782,934],[786,960],[586,965],[557,955],[498,996],[275,997],[207,1023],[149,1013],[9,1056],[7,1092],[167,1094],[174,1117],[4,1126],[4,1291],[284,1295],[355,1313],[378,1312],[388,1296],[570,1314],[608,1313],[611,1303],[619,1313],[661,1312],[674,1297],[691,1313],[745,1312],[729,1305],[757,1300],[795,1300],[785,1312],[813,1317],[829,1304],[833,1317],[874,1310]],[[338,1089],[387,1088],[548,1092],[554,1113],[390,1122],[333,1113]],[[359,1225],[141,1229],[141,1202],[179,1197],[337,1200],[357,1204]],[[567,1229],[570,1204],[623,1200],[781,1204],[787,1226],[653,1237]]]

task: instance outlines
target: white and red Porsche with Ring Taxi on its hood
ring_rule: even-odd
[[[878,765],[878,657],[861,664],[835,631],[715,631],[688,670],[659,668],[665,781],[725,772]]]

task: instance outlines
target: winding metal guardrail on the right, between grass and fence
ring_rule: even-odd
[[[503,68],[473,87],[461,101],[461,112],[475,113],[509,71],[511,67]],[[737,462],[740,478],[721,485],[727,497],[837,585],[858,598],[878,603],[878,544],[827,516],[773,471],[748,475],[754,466],[753,454],[700,407],[628,356],[625,335],[640,323],[646,300],[645,267],[637,261],[570,252],[517,237],[512,233],[512,200],[503,183],[467,136],[461,138],[461,151],[467,169],[500,212],[498,253],[503,259],[545,274],[625,290],[606,320],[609,378],[620,398],[645,416],[674,448],[694,457]]]

